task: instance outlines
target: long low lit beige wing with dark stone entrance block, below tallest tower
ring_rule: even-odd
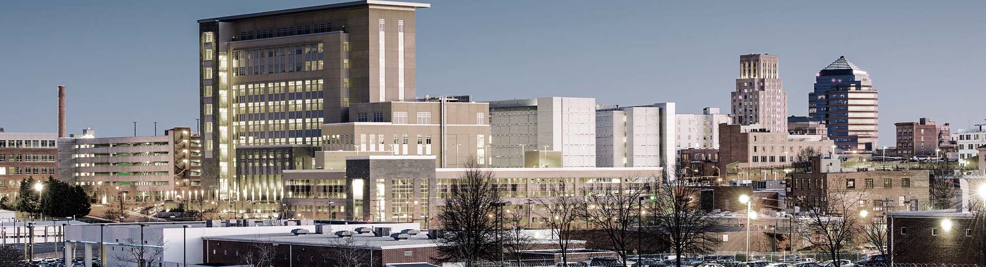
[[[285,170],[284,203],[305,219],[415,221],[435,224],[455,180],[467,168],[435,168],[429,156],[361,156],[347,159],[346,169]],[[574,196],[614,185],[658,181],[661,167],[490,167],[503,189],[508,209],[531,210],[533,197],[548,196],[552,186],[566,184]],[[359,180],[359,181],[357,181]],[[332,204],[326,204],[332,202]]]

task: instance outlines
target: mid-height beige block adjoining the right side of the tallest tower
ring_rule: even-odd
[[[390,101],[353,104],[349,121],[322,126],[324,151],[435,156],[436,167],[489,163],[485,102]]]

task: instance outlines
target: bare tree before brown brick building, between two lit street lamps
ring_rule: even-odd
[[[815,249],[828,254],[834,260],[836,267],[839,265],[840,253],[852,247],[853,240],[859,234],[857,205],[861,203],[860,200],[865,199],[864,195],[864,193],[830,186],[823,198],[805,198],[796,201],[798,206],[810,207],[807,209],[808,217],[799,225],[805,240]]]

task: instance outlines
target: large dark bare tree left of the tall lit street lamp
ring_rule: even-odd
[[[675,171],[666,167],[665,171]],[[669,177],[670,175],[666,175]],[[645,203],[645,237],[667,244],[676,256],[675,266],[681,267],[683,253],[705,254],[715,251],[722,243],[717,233],[722,223],[711,210],[701,208],[701,189],[689,186],[684,179],[665,179],[657,187],[652,203]]]

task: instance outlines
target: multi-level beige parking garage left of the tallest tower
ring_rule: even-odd
[[[59,138],[59,179],[97,201],[200,199],[201,143],[188,127],[160,136]],[[120,192],[121,194],[117,194]]]

